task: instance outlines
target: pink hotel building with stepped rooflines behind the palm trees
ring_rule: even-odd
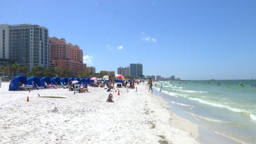
[[[50,43],[50,67],[58,67],[60,70],[71,70],[77,74],[86,71],[86,63],[83,63],[83,50],[78,45],[66,43],[66,40],[51,37]]]

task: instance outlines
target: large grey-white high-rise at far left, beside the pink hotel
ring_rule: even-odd
[[[0,25],[0,59],[21,66],[49,66],[48,28],[31,24]]]

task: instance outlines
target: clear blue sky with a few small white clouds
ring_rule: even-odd
[[[255,0],[0,0],[0,24],[38,24],[88,66],[144,75],[256,79]]]

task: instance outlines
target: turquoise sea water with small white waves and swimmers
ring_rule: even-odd
[[[174,112],[214,136],[232,143],[256,143],[256,80],[162,81],[154,88]],[[207,139],[207,133],[201,135]]]

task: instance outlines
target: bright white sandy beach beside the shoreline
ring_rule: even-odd
[[[0,143],[37,144],[198,144],[198,127],[171,112],[162,98],[136,89],[109,92],[90,87],[90,93],[68,89],[8,91],[0,88]],[[67,99],[40,98],[62,95]],[[29,96],[29,102],[26,101]]]

